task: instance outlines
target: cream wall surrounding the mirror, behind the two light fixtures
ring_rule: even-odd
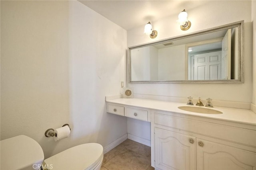
[[[130,29],[127,31],[128,47],[160,41],[179,35],[208,29],[240,20],[244,20],[244,84],[128,84],[134,88],[134,94],[149,94],[157,96],[173,96],[187,98],[208,97],[214,100],[226,100],[234,102],[252,102],[252,96],[256,96],[256,75],[254,74],[254,93],[252,94],[252,9],[251,1],[188,1],[180,2],[184,4],[182,9],[177,9],[177,14],[162,18],[157,21],[150,21],[153,29],[158,31],[158,36],[151,39],[149,36],[142,34],[144,25]],[[255,4],[255,2],[253,2]],[[191,8],[194,7],[194,8]],[[188,12],[188,20],[192,25],[187,31],[182,31],[176,22],[178,14],[181,10],[186,9]],[[255,22],[254,22],[255,25]],[[255,27],[254,27],[255,32]],[[255,34],[255,33],[254,33]],[[255,41],[255,36],[254,36]],[[254,45],[255,49],[255,45]],[[254,50],[255,51],[255,50]],[[255,59],[255,53],[254,53]],[[255,67],[254,61],[254,67]],[[255,70],[255,68],[254,68]],[[255,72],[255,71],[254,71]],[[141,95],[140,95],[141,96]],[[130,125],[135,125],[133,122],[128,122]],[[146,126],[144,126],[144,133]],[[133,129],[137,129],[135,126]],[[150,128],[148,128],[150,131]],[[131,134],[139,133],[138,131],[130,131]],[[150,140],[150,136],[147,137]]]

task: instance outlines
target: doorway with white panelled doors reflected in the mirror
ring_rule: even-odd
[[[228,29],[221,39],[193,43],[188,49],[190,52],[192,49],[197,50],[197,53],[188,56],[189,80],[230,80],[231,29]],[[208,49],[208,51],[202,53],[200,49]],[[221,51],[218,51],[220,49]]]

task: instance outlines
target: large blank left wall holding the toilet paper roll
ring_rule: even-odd
[[[127,133],[105,96],[125,80],[126,30],[77,1],[1,1],[1,140],[35,139],[45,158]],[[69,123],[54,142],[48,128]]]

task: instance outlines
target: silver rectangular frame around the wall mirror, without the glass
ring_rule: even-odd
[[[202,34],[206,34],[206,33],[212,33],[215,31],[220,31],[223,29],[229,29],[232,27],[238,27],[238,54],[240,54],[240,57],[238,57],[238,79],[232,79],[232,80],[164,80],[164,81],[132,81],[132,75],[131,75],[131,50],[132,49],[137,49],[140,47],[146,47],[146,46],[150,46],[150,45],[155,45],[155,44],[159,44],[159,43],[166,43],[168,41],[174,41],[177,39],[184,39],[187,37],[193,37],[196,35],[202,35]],[[186,34],[186,35],[182,35],[182,36],[177,36],[177,37],[172,37],[169,39],[164,39],[161,41],[155,41],[153,43],[146,43],[146,44],[142,44],[142,45],[138,45],[138,46],[133,46],[133,47],[129,47],[129,54],[128,54],[128,79],[129,79],[129,83],[147,83],[147,84],[151,84],[151,83],[244,83],[244,20],[242,21],[237,21],[234,23],[230,23],[230,24],[226,24],[226,25],[221,25],[218,27],[213,27],[210,29],[204,29],[202,31],[197,31],[194,33],[190,33],[190,34]]]

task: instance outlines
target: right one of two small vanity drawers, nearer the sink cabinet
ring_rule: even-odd
[[[126,117],[148,121],[148,111],[126,107]]]

